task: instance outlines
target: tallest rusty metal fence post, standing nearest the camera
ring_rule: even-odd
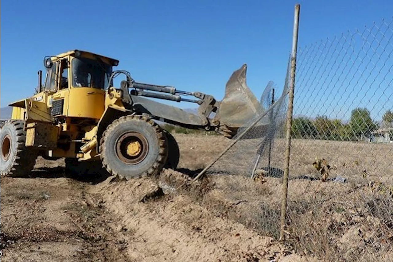
[[[296,4],[295,15],[294,15],[293,37],[292,37],[288,110],[286,112],[285,168],[284,168],[284,178],[283,178],[283,194],[282,194],[282,202],[281,202],[281,222],[280,222],[281,241],[284,240],[284,232],[285,232],[285,225],[286,225],[285,218],[286,218],[286,207],[287,207],[287,198],[288,198],[289,160],[290,160],[290,147],[291,147],[291,128],[292,128],[294,89],[295,89],[296,53],[298,49],[299,13],[300,13],[300,5]]]

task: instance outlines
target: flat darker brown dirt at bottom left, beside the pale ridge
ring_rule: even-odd
[[[50,174],[46,174],[50,176]],[[88,184],[70,178],[3,178],[1,261],[132,261],[127,243]]]

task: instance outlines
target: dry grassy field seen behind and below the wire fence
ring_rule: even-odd
[[[176,139],[185,143],[187,137],[180,135]],[[230,142],[222,137],[187,139],[187,147],[182,147],[182,164],[193,163],[200,156],[210,162]],[[272,151],[272,167],[277,170],[284,167],[284,142],[277,139]],[[242,143],[234,147],[241,157],[234,154],[235,150],[229,152],[219,160],[221,168],[239,174],[238,170],[250,166],[255,143]],[[203,153],[195,158],[193,150]],[[393,169],[387,161],[392,150],[390,144],[292,140],[287,243],[299,254],[326,261],[392,261]],[[321,172],[313,166],[316,158],[326,159],[331,167],[326,182],[321,181]],[[335,182],[336,177],[346,182]],[[265,192],[258,194],[253,190],[255,186],[233,176],[222,176],[220,186],[216,184],[214,190],[217,203],[211,206],[261,234],[277,237],[280,183],[280,178],[268,178],[263,185]],[[232,203],[246,201],[235,208],[218,201],[233,198]]]

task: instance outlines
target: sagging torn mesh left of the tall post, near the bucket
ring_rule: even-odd
[[[289,71],[287,70],[286,79]],[[276,138],[283,136],[283,123],[287,107],[288,81],[282,93],[274,82],[268,82],[260,104],[260,112],[241,126],[231,141],[237,141],[207,171],[207,174],[257,176],[282,176],[282,153],[275,152]],[[278,166],[275,166],[278,165]]]

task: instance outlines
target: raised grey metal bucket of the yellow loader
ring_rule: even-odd
[[[246,84],[247,65],[234,71],[226,83],[225,95],[220,101],[216,119],[235,131],[258,114],[262,107]]]

